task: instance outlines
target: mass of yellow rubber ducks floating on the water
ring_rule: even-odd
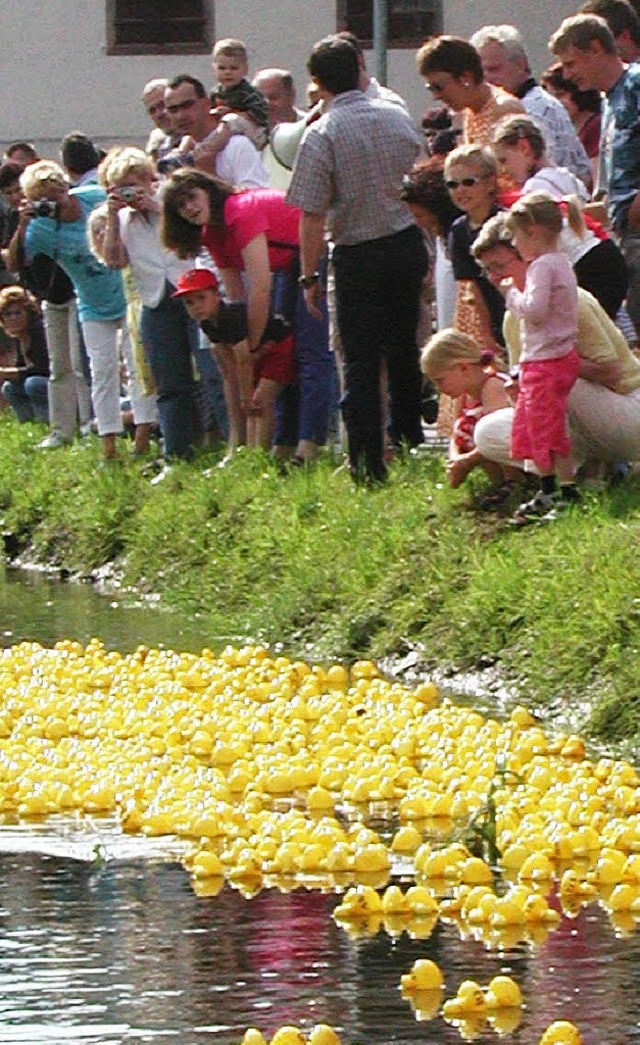
[[[353,936],[426,939],[442,920],[496,948],[542,942],[557,906],[574,918],[598,903],[619,933],[640,922],[636,769],[548,737],[524,707],[501,722],[370,660],[312,666],[259,646],[123,655],[98,640],[4,650],[0,696],[5,820],[110,816],[123,832],[178,836],[200,893],[303,884],[341,893],[334,916]],[[489,796],[497,866],[461,833],[486,820]],[[461,1032],[520,1022],[508,977],[443,1000],[432,967],[403,977],[421,1018]],[[243,1039],[265,1042],[256,1028]],[[269,1045],[339,1042],[320,1024],[281,1027]],[[540,1045],[579,1042],[561,1021]]]

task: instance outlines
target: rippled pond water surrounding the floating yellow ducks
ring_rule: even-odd
[[[140,642],[212,645],[198,622],[33,576],[0,577],[0,622],[4,645],[94,634],[123,651]],[[544,944],[503,952],[462,944],[440,923],[428,939],[384,930],[351,938],[330,918],[335,893],[266,889],[248,900],[225,886],[198,897],[153,842],[128,839],[113,859],[89,862],[65,855],[74,852],[69,834],[67,850],[44,826],[26,852],[17,844],[24,840],[15,827],[0,830],[2,1043],[230,1045],[248,1026],[272,1035],[316,1022],[333,1024],[344,1045],[460,1042],[441,1019],[417,1021],[401,997],[401,975],[429,957],[443,970],[447,996],[467,977],[513,975],[527,1007],[506,1042],[536,1045],[553,1020],[573,1019],[585,1045],[640,1045],[640,936],[617,935],[595,905],[564,919]],[[498,1040],[488,1030],[476,1038]]]

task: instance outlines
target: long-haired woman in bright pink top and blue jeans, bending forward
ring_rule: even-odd
[[[297,285],[300,212],[275,189],[237,189],[200,170],[177,171],[163,195],[163,239],[180,257],[193,257],[204,246],[224,283],[228,300],[247,300],[249,338],[255,352],[270,306],[294,324],[299,410],[281,397],[276,446],[295,446],[308,461],[326,441],[334,397],[334,358],[328,323],[314,319]],[[273,278],[281,274],[280,278]],[[297,423],[296,423],[297,422]]]

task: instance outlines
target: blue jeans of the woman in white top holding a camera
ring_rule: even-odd
[[[165,457],[188,458],[193,449],[195,401],[191,353],[198,324],[167,289],[155,308],[142,306],[140,336],[158,392],[158,415]]]

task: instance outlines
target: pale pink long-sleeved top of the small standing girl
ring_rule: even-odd
[[[558,359],[575,348],[577,283],[566,254],[556,251],[534,258],[524,291],[509,286],[506,306],[520,320],[521,363]]]

